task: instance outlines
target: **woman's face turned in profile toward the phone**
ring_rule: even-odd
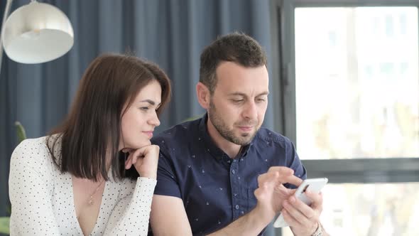
[[[160,125],[156,110],[161,103],[161,86],[157,80],[143,87],[121,118],[119,150],[150,145],[155,127]]]

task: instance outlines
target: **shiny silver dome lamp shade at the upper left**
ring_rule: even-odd
[[[74,43],[70,20],[50,4],[32,1],[4,23],[4,51],[18,63],[45,63],[67,53]]]

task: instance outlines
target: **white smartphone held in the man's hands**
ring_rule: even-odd
[[[307,198],[304,194],[306,190],[310,190],[313,193],[320,193],[320,190],[323,186],[327,183],[327,178],[308,178],[303,183],[298,186],[297,191],[295,191],[294,195],[295,198],[300,199],[303,203],[310,205],[311,200]],[[276,218],[275,222],[273,222],[273,227],[287,227],[288,224],[283,219],[283,215],[280,213],[278,218]]]

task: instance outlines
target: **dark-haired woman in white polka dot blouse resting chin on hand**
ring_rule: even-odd
[[[169,99],[156,65],[96,58],[65,122],[13,151],[11,235],[147,235],[159,152],[150,139]]]

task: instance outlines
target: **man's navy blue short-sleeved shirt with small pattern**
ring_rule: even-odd
[[[257,177],[271,166],[306,171],[292,142],[261,128],[234,159],[207,132],[207,115],[178,124],[152,139],[160,146],[154,194],[183,200],[193,235],[207,235],[229,225],[256,206]]]

